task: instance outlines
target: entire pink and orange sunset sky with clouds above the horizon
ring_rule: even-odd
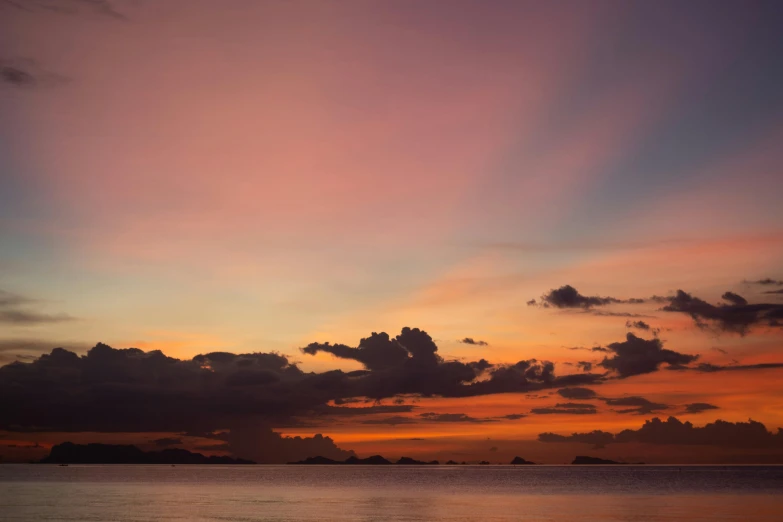
[[[0,456],[783,462],[781,25],[0,1]]]

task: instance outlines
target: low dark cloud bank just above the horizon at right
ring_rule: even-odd
[[[666,421],[659,418],[645,421],[638,430],[623,430],[617,434],[603,431],[574,433],[568,436],[542,433],[541,442],[587,442],[595,433],[603,434],[604,445],[610,443],[641,442],[645,444],[682,444],[723,446],[734,448],[783,448],[783,429],[770,433],[760,422],[726,422],[717,420],[703,427],[695,427],[690,422],[682,422],[675,417]],[[611,439],[609,439],[611,435]]]

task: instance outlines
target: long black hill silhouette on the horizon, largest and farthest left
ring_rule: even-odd
[[[206,457],[184,449],[142,451],[136,446],[118,444],[74,444],[52,446],[44,464],[255,464],[231,457]]]

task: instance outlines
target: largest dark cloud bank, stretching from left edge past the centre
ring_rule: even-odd
[[[553,363],[535,359],[505,365],[444,361],[429,335],[418,329],[404,328],[394,339],[385,333],[369,339],[338,353],[372,369],[323,373],[303,372],[276,353],[213,352],[187,360],[101,343],[83,356],[55,348],[32,362],[0,367],[0,429],[214,432],[241,428],[249,420],[285,426],[301,418],[394,415],[413,408],[337,404],[357,397],[473,397],[604,379],[589,373],[557,376]],[[312,352],[333,347],[317,346]]]

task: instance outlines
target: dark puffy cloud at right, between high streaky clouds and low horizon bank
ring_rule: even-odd
[[[687,355],[668,350],[660,339],[642,339],[632,333],[623,342],[612,343],[607,348],[614,353],[605,357],[598,366],[617,372],[620,377],[630,377],[657,371],[661,364],[687,365],[698,355]]]

